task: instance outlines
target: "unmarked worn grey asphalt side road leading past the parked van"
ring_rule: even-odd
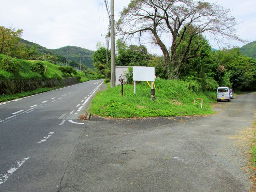
[[[249,191],[242,169],[255,101],[240,95],[202,117],[92,117],[59,191]]]

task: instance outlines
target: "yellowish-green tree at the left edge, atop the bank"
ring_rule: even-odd
[[[18,46],[22,34],[22,29],[16,30],[14,28],[0,26],[0,54],[8,55],[12,47]]]

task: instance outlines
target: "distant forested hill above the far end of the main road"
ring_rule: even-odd
[[[91,59],[94,51],[76,46],[66,46],[59,49],[49,50],[53,51],[57,55],[66,57],[68,60],[76,61],[78,63],[80,62],[79,53],[81,53],[81,63],[84,63],[87,67],[94,68],[93,60]]]

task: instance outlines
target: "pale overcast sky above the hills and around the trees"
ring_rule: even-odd
[[[108,0],[110,3],[110,0]],[[232,9],[239,23],[237,35],[249,42],[256,40],[256,0],[206,0]],[[108,17],[103,0],[1,0],[0,26],[23,29],[22,38],[46,48],[67,45],[96,50],[105,42]],[[115,20],[130,0],[115,0]],[[110,6],[110,5],[109,5]],[[217,48],[216,45],[213,47]],[[243,43],[234,42],[234,46]],[[160,53],[148,47],[151,54]]]

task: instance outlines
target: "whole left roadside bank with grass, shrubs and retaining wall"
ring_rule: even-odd
[[[65,86],[66,78],[76,78],[75,82],[81,83],[98,79],[100,76],[96,73],[76,71],[72,67],[59,67],[48,61],[23,60],[0,55],[0,102]]]

